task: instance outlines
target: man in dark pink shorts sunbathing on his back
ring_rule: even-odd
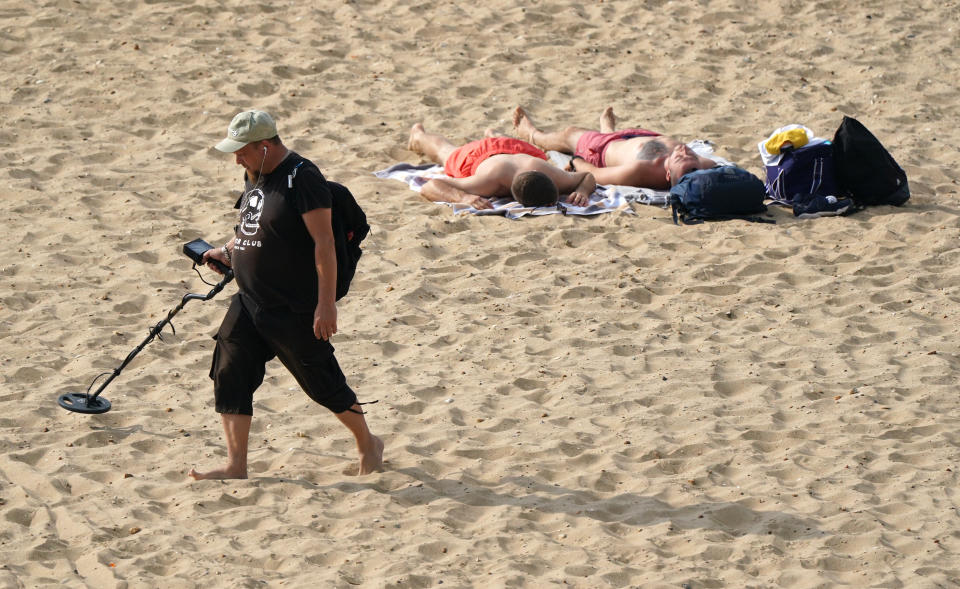
[[[717,165],[678,139],[646,129],[616,131],[616,123],[613,109],[607,107],[599,131],[572,126],[543,131],[522,106],[513,112],[517,136],[541,149],[572,153],[569,169],[590,172],[599,184],[667,190],[684,174]]]

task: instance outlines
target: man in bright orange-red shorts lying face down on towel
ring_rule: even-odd
[[[443,164],[449,178],[433,178],[420,195],[431,202],[459,202],[475,209],[492,209],[489,199],[512,197],[526,207],[566,202],[586,206],[597,187],[587,171],[567,172],[554,166],[536,146],[487,129],[484,138],[456,146],[446,137],[428,133],[423,124],[410,129],[410,151]]]

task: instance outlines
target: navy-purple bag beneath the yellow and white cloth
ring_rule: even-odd
[[[798,195],[838,196],[833,164],[833,144],[823,141],[799,149],[786,147],[783,157],[767,169],[767,194],[785,205],[793,204]]]

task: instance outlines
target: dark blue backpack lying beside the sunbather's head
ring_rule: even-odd
[[[703,221],[744,219],[775,223],[757,217],[767,210],[766,187],[759,178],[737,166],[719,166],[684,174],[670,189],[673,222],[687,225]]]

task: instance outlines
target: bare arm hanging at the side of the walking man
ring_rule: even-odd
[[[313,312],[313,334],[330,339],[337,333],[337,254],[333,243],[330,209],[313,209],[303,214],[303,222],[313,238],[313,258],[317,266],[317,308]]]

